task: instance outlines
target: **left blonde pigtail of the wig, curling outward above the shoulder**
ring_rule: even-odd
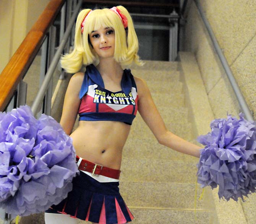
[[[89,11],[90,9],[85,9],[78,14],[75,27],[74,50],[69,54],[63,55],[60,60],[62,68],[68,73],[78,72],[83,66],[84,61],[90,61],[84,51],[83,37],[81,33],[81,23]],[[89,58],[90,56],[91,55],[89,55]]]

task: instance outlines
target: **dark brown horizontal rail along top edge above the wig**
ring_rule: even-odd
[[[144,7],[179,7],[177,3],[157,3],[157,2],[130,2],[130,1],[109,1],[109,0],[83,0],[84,3],[94,4],[111,4],[111,5],[126,5],[126,6],[144,6]]]

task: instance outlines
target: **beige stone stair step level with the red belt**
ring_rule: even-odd
[[[123,158],[120,181],[196,182],[196,162],[159,159]]]

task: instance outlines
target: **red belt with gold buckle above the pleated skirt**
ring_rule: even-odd
[[[80,157],[76,156],[76,162],[78,162]],[[93,176],[106,176],[113,179],[119,179],[120,170],[115,170],[112,168],[108,168],[105,166],[100,166],[96,163],[92,163],[90,161],[87,161],[85,159],[82,159],[81,163],[78,166],[79,170],[87,171],[92,173]]]

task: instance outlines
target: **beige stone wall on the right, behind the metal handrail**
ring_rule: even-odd
[[[220,48],[256,119],[256,1],[200,0]],[[215,118],[238,115],[235,94],[193,1],[188,4],[185,51],[196,55]],[[256,194],[241,203],[248,224],[256,223]]]

